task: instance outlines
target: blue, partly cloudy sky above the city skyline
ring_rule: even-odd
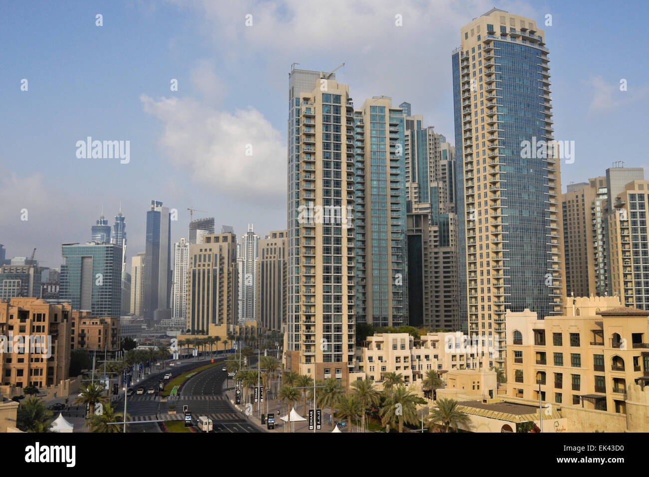
[[[614,161],[644,167],[645,1],[5,1],[0,243],[58,268],[61,243],[89,240],[102,208],[112,225],[121,202],[130,270],[152,199],[178,211],[172,241],[188,237],[187,208],[217,232],[282,230],[291,64],[344,62],[336,79],[355,104],[408,101],[455,143],[451,53],[494,6],[545,29],[554,136],[574,141],[564,190]],[[129,161],[84,157],[89,136],[129,141]]]

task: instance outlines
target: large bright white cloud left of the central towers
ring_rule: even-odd
[[[195,180],[241,201],[284,201],[286,141],[258,110],[230,113],[188,98],[140,99],[164,125],[161,149]],[[252,155],[246,155],[249,147]]]

